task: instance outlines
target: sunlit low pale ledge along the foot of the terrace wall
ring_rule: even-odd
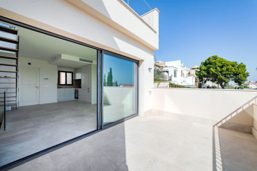
[[[171,112],[165,112],[165,111],[159,111],[159,110],[152,109],[152,114],[151,115],[154,115],[154,114],[167,116],[167,117],[171,117],[171,118],[174,118],[174,119],[189,121],[189,122],[196,122],[196,123],[200,123],[200,124],[211,125],[211,126],[213,126],[214,124],[216,124],[218,122],[216,120],[211,120],[211,119],[207,119],[207,118],[200,118],[200,117],[196,117],[196,116],[176,114],[176,113],[171,113]]]

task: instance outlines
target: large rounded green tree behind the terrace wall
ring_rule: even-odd
[[[196,71],[196,75],[200,81],[205,83],[207,80],[216,82],[222,89],[231,80],[242,85],[249,76],[249,72],[246,72],[245,64],[238,64],[235,61],[229,61],[217,55],[207,58],[201,63],[199,69],[199,71]]]

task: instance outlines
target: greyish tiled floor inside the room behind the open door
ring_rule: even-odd
[[[65,101],[8,111],[0,130],[0,165],[96,130],[97,105]]]

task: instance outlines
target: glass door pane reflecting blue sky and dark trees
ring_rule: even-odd
[[[138,114],[138,61],[103,54],[103,126]]]

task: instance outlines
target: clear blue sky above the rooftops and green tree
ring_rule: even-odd
[[[248,80],[257,80],[257,0],[145,1],[160,11],[157,60],[192,67],[218,55],[243,62]],[[144,0],[129,5],[139,15],[150,11]]]

